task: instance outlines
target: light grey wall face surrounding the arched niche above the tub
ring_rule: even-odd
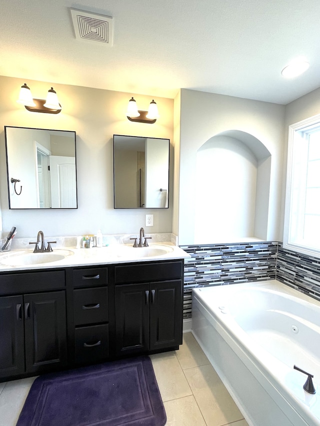
[[[194,244],[195,205],[201,204],[196,198],[196,152],[212,136],[228,130],[253,135],[271,154],[266,239],[279,237],[284,112],[284,105],[181,89],[179,244]]]

